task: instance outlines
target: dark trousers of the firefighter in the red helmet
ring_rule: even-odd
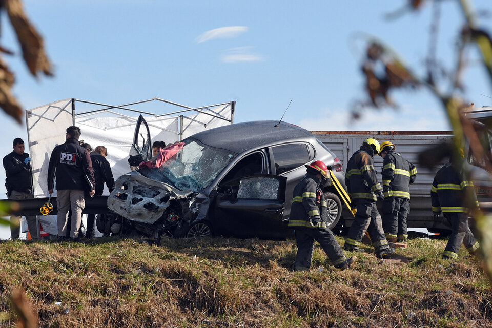
[[[333,265],[338,265],[346,260],[340,245],[330,229],[296,228],[296,271],[309,270],[311,267],[315,240],[319,242]]]

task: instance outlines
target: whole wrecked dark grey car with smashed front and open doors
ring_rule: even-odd
[[[151,157],[151,143],[148,136],[137,145],[138,130],[146,126],[143,118],[140,124],[133,147],[145,160]],[[285,122],[210,129],[179,147],[159,167],[142,167],[116,180],[108,197],[116,216],[106,222],[106,233],[132,229],[155,238],[285,239],[292,235],[287,228],[292,193],[306,173],[304,165],[322,160],[343,181],[338,158],[310,132]],[[329,181],[324,191],[334,227],[342,211],[340,190]]]

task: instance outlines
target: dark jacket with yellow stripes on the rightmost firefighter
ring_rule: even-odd
[[[465,207],[467,188],[471,188],[474,195],[474,205],[478,201],[473,188],[473,182],[465,180],[462,172],[458,172],[451,163],[444,165],[437,171],[434,182],[430,188],[430,200],[434,213],[468,213]]]

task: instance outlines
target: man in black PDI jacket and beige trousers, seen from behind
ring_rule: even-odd
[[[58,240],[65,239],[68,211],[72,209],[70,238],[78,240],[85,206],[84,191],[95,194],[94,171],[89,152],[78,142],[81,131],[78,127],[68,127],[64,144],[56,146],[51,152],[48,166],[48,192],[53,193],[56,177],[56,204],[58,207]]]

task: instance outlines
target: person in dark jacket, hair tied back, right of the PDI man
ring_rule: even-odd
[[[104,146],[97,146],[90,155],[92,160],[92,168],[94,169],[94,178],[96,181],[95,195],[99,196],[103,194],[105,182],[109,192],[112,192],[114,189],[114,179],[111,166],[106,159],[106,156],[108,156],[108,149]],[[87,216],[86,238],[94,238],[96,236],[94,224],[95,218],[95,214],[89,214]]]

